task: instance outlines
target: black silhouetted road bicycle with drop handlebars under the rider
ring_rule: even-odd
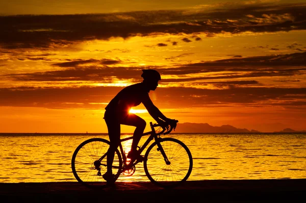
[[[145,143],[139,147],[139,153],[146,148],[151,140],[155,140],[146,150],[143,167],[148,179],[163,188],[176,187],[185,182],[193,166],[192,155],[188,147],[180,140],[174,138],[161,138],[161,135],[169,134],[174,126],[162,128],[159,124],[150,122],[151,131],[142,136],[150,135]],[[155,128],[160,127],[156,132]],[[131,176],[136,170],[136,165],[140,163],[135,160],[129,163],[122,147],[122,142],[133,139],[127,137],[120,139],[119,149],[116,149],[114,162],[112,165],[115,180],[120,174]],[[92,138],[81,143],[75,149],[71,168],[75,179],[90,188],[106,187],[106,181],[102,175],[107,171],[107,150],[110,141],[103,138]],[[123,159],[123,161],[122,161]]]

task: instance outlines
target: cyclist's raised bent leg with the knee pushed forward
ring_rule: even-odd
[[[130,113],[124,119],[122,119],[120,123],[124,125],[131,125],[131,126],[136,127],[134,131],[133,142],[132,142],[132,147],[131,147],[131,151],[132,153],[134,153],[135,151],[137,151],[137,145],[145,129],[146,122],[144,119],[140,118],[139,116],[133,113]]]

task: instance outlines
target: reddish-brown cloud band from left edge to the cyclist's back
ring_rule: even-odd
[[[114,96],[118,87],[80,87],[80,88],[3,88],[0,106],[45,107],[45,108],[82,108],[105,107],[89,103],[106,103]],[[19,99],[18,99],[19,98]],[[22,102],[20,100],[22,98]],[[19,102],[18,102],[19,100]],[[67,104],[68,103],[68,104]],[[71,104],[69,104],[71,103]],[[84,103],[83,105],[73,105]]]

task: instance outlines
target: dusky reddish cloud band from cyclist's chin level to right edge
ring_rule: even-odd
[[[196,89],[196,88],[161,88],[158,90],[161,101],[167,100],[170,104],[177,104],[178,106],[193,106],[205,107],[207,105],[233,105],[241,104],[247,106],[256,103],[267,103],[266,105],[281,106],[284,96],[289,96],[286,104],[295,105],[295,98],[306,100],[306,88],[265,88],[265,87],[245,87],[245,88],[231,88],[231,89]],[[292,92],[291,92],[292,91]],[[167,93],[168,92],[168,93]],[[181,99],[178,99],[181,98]],[[274,101],[275,99],[275,101]],[[188,103],[188,104],[187,104]],[[162,102],[158,105],[163,105]]]

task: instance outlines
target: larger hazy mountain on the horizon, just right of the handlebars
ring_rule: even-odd
[[[177,123],[175,133],[260,133],[256,130],[237,129],[232,125],[212,126],[208,123]]]

